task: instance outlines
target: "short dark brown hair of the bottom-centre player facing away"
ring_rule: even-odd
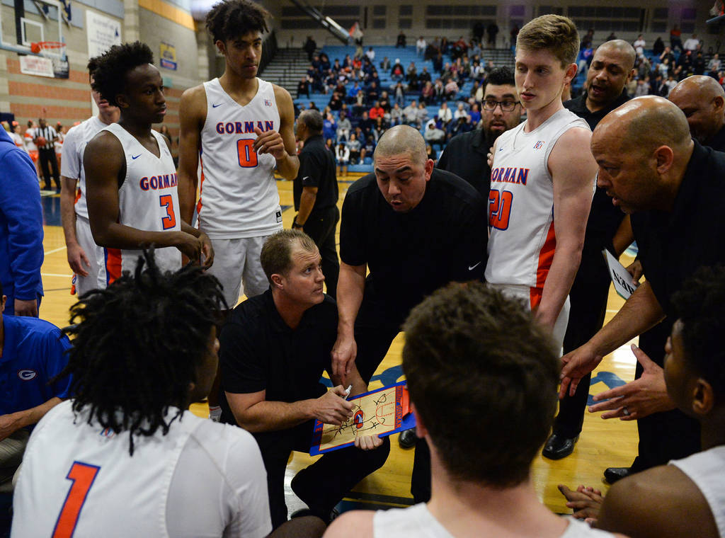
[[[557,405],[559,355],[544,328],[522,302],[469,282],[435,291],[403,330],[410,399],[447,473],[497,488],[525,481]]]

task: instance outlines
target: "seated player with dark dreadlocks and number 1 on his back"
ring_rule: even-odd
[[[78,324],[65,330],[75,338],[61,375],[73,376],[75,397],[46,415],[28,442],[13,537],[271,530],[252,435],[187,410],[216,372],[219,282],[197,265],[163,273],[152,254],[144,258],[148,268],[139,262],[133,276],[71,308]]]

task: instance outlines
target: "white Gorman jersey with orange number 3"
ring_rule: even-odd
[[[177,175],[174,161],[164,138],[151,131],[159,145],[159,155],[152,154],[117,123],[107,125],[123,146],[126,177],[118,189],[118,223],[144,231],[180,231]],[[128,270],[133,273],[141,250],[104,249],[107,284]],[[156,263],[162,271],[181,268],[181,252],[175,247],[156,250]]]

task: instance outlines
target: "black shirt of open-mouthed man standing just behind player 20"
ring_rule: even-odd
[[[612,112],[613,109],[628,102],[629,99],[626,91],[623,91],[608,107],[592,112],[587,108],[587,93],[584,92],[576,99],[570,99],[564,103],[564,107],[581,117],[582,120],[589,124],[589,128],[594,131],[603,117]],[[606,248],[614,252],[612,239],[623,219],[624,213],[612,204],[612,199],[607,196],[607,191],[597,187],[594,198],[592,198],[589,220],[587,220],[587,233],[584,236],[582,257],[597,257],[597,260],[599,260],[602,258],[602,249]]]

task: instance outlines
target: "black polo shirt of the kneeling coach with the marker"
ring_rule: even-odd
[[[337,306],[331,297],[308,309],[294,330],[277,312],[270,289],[251,297],[233,310],[219,336],[222,394],[265,390],[266,400],[288,403],[320,397],[326,392],[320,376],[331,371],[336,338]]]

